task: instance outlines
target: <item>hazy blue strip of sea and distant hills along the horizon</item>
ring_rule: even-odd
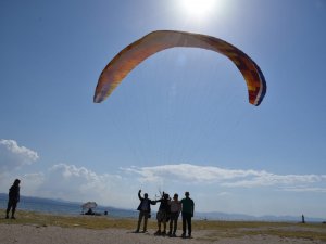
[[[0,208],[5,208],[4,202],[8,200],[8,194],[0,193]],[[71,205],[73,207],[80,207],[80,202],[71,202],[65,200],[53,200],[53,198],[43,198],[37,196],[21,196],[22,203],[38,203],[42,205]],[[109,213],[120,213],[122,216],[126,217],[135,217],[135,209],[122,209],[116,207],[110,206],[99,206],[100,209],[108,209]],[[42,210],[40,210],[42,211]],[[265,216],[251,216],[251,215],[243,215],[243,214],[225,214],[220,211],[211,211],[211,213],[196,213],[196,219],[202,220],[236,220],[236,221],[287,221],[287,222],[301,222],[301,216],[273,216],[273,215],[265,215]],[[323,222],[326,219],[322,218],[312,218],[305,216],[306,222]]]

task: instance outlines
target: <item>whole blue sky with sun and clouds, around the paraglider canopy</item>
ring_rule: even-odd
[[[201,5],[204,2],[201,1]],[[326,1],[0,2],[0,192],[135,208],[190,191],[200,211],[326,217]],[[171,49],[101,104],[110,60],[156,29],[224,39],[263,70],[248,103],[226,57]]]

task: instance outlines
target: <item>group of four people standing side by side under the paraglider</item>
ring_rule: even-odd
[[[143,197],[140,195],[141,190],[138,192],[138,197],[140,204],[137,208],[139,210],[138,224],[136,233],[140,231],[140,226],[143,219],[143,229],[142,232],[147,232],[147,222],[151,217],[151,205],[160,203],[159,211],[156,214],[158,220],[158,231],[155,235],[168,235],[171,237],[176,237],[177,223],[179,215],[183,217],[183,234],[181,237],[191,237],[191,218],[193,217],[195,203],[189,197],[189,192],[185,192],[185,197],[179,201],[178,194],[174,194],[171,200],[167,193],[162,194],[160,200],[152,201],[148,197],[148,194],[145,193]],[[170,231],[166,233],[166,224],[170,221]],[[163,230],[162,230],[163,226]],[[188,234],[187,234],[188,230]]]

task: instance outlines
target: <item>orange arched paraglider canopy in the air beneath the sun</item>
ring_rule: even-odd
[[[156,30],[130,43],[113,57],[100,75],[93,102],[100,103],[105,100],[129,72],[147,57],[176,47],[201,48],[227,56],[246,80],[249,102],[258,106],[263,101],[266,93],[263,73],[253,60],[235,46],[216,37],[201,34]]]

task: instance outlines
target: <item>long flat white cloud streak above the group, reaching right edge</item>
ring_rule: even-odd
[[[326,182],[325,175],[275,175],[265,170],[225,169],[190,164],[129,167],[123,170],[138,174],[138,180],[141,182],[160,182],[164,179],[173,179],[188,183],[218,183],[218,185],[226,188],[290,187]]]

